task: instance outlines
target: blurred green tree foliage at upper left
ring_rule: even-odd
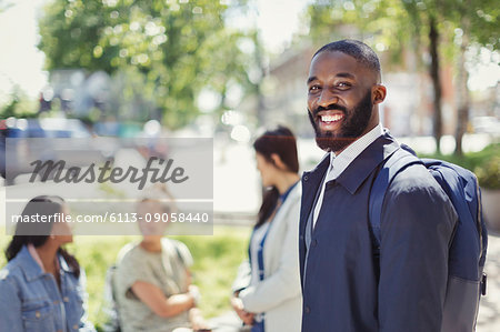
[[[198,114],[202,88],[223,93],[231,80],[248,87],[246,54],[237,47],[244,36],[224,26],[227,2],[53,0],[40,20],[39,48],[48,70],[121,76],[124,100],[149,102],[166,125],[179,128]]]

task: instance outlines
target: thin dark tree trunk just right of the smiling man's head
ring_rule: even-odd
[[[439,53],[438,53],[438,43],[439,43],[439,31],[436,22],[436,18],[430,14],[429,16],[429,41],[430,41],[430,76],[432,79],[432,87],[434,90],[434,100],[433,100],[433,135],[436,140],[436,152],[441,153],[441,137],[442,137],[442,115],[441,115],[441,79],[439,74]]]

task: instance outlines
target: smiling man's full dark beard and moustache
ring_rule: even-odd
[[[373,103],[371,102],[371,91],[361,99],[361,101],[351,110],[347,110],[342,105],[330,104],[327,108],[317,108],[312,112],[308,111],[309,120],[316,132],[316,143],[318,147],[327,152],[342,151],[353,141],[359,139],[368,127],[372,113]],[[341,110],[344,114],[344,120],[340,127],[340,132],[333,134],[331,131],[321,132],[318,123],[314,121],[318,112],[324,110]]]

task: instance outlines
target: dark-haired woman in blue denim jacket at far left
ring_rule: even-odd
[[[59,197],[32,199],[22,211],[0,271],[0,326],[10,332],[94,331],[86,322],[84,272],[61,248],[72,242]],[[61,218],[62,217],[62,218]],[[42,219],[46,222],[40,222]],[[7,331],[7,330],[6,330]]]

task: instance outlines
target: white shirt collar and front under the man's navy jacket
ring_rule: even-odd
[[[336,155],[336,153],[330,152],[330,165],[327,170],[327,175],[324,177],[323,183],[321,184],[321,192],[318,198],[318,202],[314,207],[314,214],[312,219],[312,227],[316,227],[316,221],[318,220],[318,215],[321,211],[321,205],[323,203],[323,195],[324,195],[324,187],[328,181],[334,180],[342,172],[349,167],[349,164],[359,155],[361,152],[364,151],[371,143],[373,143],[379,137],[383,134],[382,125],[379,123],[357,139],[354,142],[352,142],[349,147],[346,148],[342,152],[339,153],[339,155]]]

